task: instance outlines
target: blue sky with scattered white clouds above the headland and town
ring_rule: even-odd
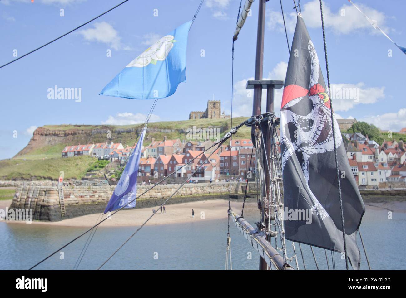
[[[42,45],[118,4],[119,0],[0,0],[0,64]],[[131,124],[143,122],[152,101],[98,95],[138,54],[160,37],[192,19],[200,0],[130,0],[80,30],[0,69],[0,159],[11,158],[45,124]],[[243,1],[244,2],[244,1]],[[283,0],[289,43],[296,13]],[[302,0],[302,15],[325,75],[318,0]],[[406,46],[404,1],[354,2],[378,21],[393,41]],[[222,101],[227,114],[234,92],[233,116],[250,116],[252,98],[245,82],[253,77],[257,1],[235,42],[234,86],[231,88],[231,37],[239,0],[205,0],[189,34],[186,83],[160,99],[153,120],[186,120],[204,110],[207,100]],[[264,78],[284,79],[288,52],[279,1],[266,4]],[[64,16],[60,16],[64,9]],[[158,16],[154,16],[154,9]],[[344,9],[345,16],[342,15]],[[354,117],[381,129],[406,127],[403,93],[404,55],[348,1],[324,1],[330,80],[336,88],[355,87],[359,101],[333,99],[337,117]],[[111,50],[111,57],[106,53]],[[204,57],[201,57],[201,50]],[[388,51],[392,50],[392,56]],[[48,88],[81,88],[80,102],[48,99]],[[281,92],[276,92],[276,105]],[[13,138],[13,131],[18,137]]]

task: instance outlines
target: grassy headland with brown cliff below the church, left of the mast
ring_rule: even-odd
[[[233,118],[233,126],[246,120],[244,117]],[[13,159],[0,161],[0,179],[53,179],[56,180],[60,171],[65,178],[81,178],[91,168],[95,159],[92,157],[62,158],[61,151],[67,145],[121,142],[123,146],[132,146],[142,124],[136,125],[45,125],[40,140],[31,139],[26,148]],[[215,128],[220,129],[220,137],[230,130],[230,119],[194,119],[184,121],[151,122],[148,124],[144,146],[151,143],[152,138],[161,140],[187,139],[187,129]],[[106,138],[106,132],[111,138]],[[242,126],[235,135],[237,138],[251,138],[251,129]],[[50,145],[50,143],[53,143]],[[48,144],[48,145],[44,145]]]

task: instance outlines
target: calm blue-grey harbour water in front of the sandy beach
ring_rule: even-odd
[[[236,210],[237,211],[237,210]],[[258,212],[244,212],[252,225],[258,221]],[[225,268],[227,219],[197,219],[192,223],[147,225],[112,257],[103,269],[204,269]],[[255,225],[254,225],[255,226]],[[0,269],[28,269],[51,252],[80,235],[88,228],[50,225],[26,225],[0,222]],[[137,227],[99,227],[86,250],[79,269],[97,269],[137,229]],[[367,209],[361,224],[361,232],[372,269],[404,269],[406,254],[406,213]],[[258,253],[230,221],[231,257],[233,269],[257,270]],[[56,253],[36,269],[73,269],[82,251],[87,234],[62,251]],[[272,241],[274,245],[274,241]],[[281,241],[277,240],[281,248]],[[292,257],[292,242],[286,241],[287,255]],[[299,246],[295,243],[299,268],[303,261]],[[315,269],[315,261],[308,245],[301,245],[304,264]],[[361,250],[361,269],[368,269],[365,254]],[[317,265],[327,269],[326,253],[330,270],[333,259],[336,269],[345,269],[345,260],[339,253],[313,248]],[[296,263],[291,264],[296,268]]]

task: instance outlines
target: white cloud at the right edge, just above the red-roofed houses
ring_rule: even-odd
[[[376,116],[367,116],[358,121],[364,121],[369,124],[374,124],[382,130],[400,131],[406,127],[406,109],[400,109],[398,112],[385,113]]]

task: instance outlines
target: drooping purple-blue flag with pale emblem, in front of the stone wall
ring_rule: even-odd
[[[132,202],[125,206],[125,208],[135,207],[138,167],[140,165],[141,147],[143,146],[145,131],[147,131],[147,126],[144,127],[134,152],[130,156],[127,165],[125,165],[123,174],[121,174],[120,180],[114,189],[114,193],[111,196],[104,213],[121,208],[131,201]]]

